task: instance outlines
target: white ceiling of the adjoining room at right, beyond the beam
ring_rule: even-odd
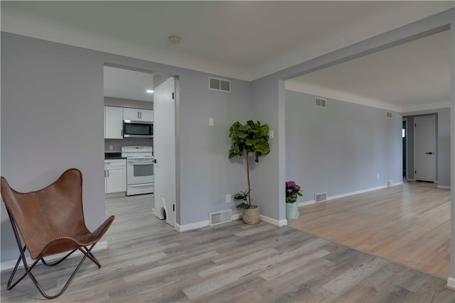
[[[287,89],[395,111],[450,107],[450,33],[389,48],[286,82]]]

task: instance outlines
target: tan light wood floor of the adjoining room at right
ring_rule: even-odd
[[[438,277],[449,277],[450,191],[406,182],[299,207],[288,225]]]

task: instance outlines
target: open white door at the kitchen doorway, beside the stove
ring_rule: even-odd
[[[154,89],[154,215],[176,223],[175,84],[171,77]]]

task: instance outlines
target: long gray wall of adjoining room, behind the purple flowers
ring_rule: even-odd
[[[402,182],[400,114],[334,99],[323,109],[314,97],[286,92],[286,179],[301,184],[299,202]]]

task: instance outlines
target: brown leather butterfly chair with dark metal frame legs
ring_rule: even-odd
[[[106,233],[107,228],[114,221],[114,216],[110,216],[94,232],[87,229],[82,210],[82,173],[80,170],[75,168],[66,170],[53,184],[28,193],[16,192],[9,187],[6,179],[1,177],[1,197],[8,211],[20,252],[16,266],[9,277],[8,290],[11,290],[23,277],[28,275],[44,297],[53,299],[65,292],[86,258],[92,260],[98,268],[101,267],[100,262],[92,254],[92,249]],[[24,244],[22,244],[19,233]],[[34,260],[31,265],[27,264],[26,250]],[[48,266],[57,265],[76,250],[82,252],[83,257],[68,282],[58,294],[46,294],[31,270],[39,260]],[[48,263],[43,259],[49,255],[66,252],[69,253],[54,263]],[[13,277],[21,261],[25,273],[13,283]]]

